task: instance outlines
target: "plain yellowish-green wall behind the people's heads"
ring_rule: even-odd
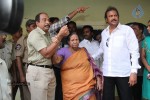
[[[104,13],[108,6],[115,6],[118,9],[122,24],[135,21],[147,24],[150,19],[150,0],[24,0],[22,27],[25,27],[27,19],[34,19],[39,12],[44,11],[50,17],[62,18],[80,6],[90,8],[84,14],[78,14],[72,19],[78,26],[90,24],[95,29],[105,28]],[[142,8],[140,13],[143,13],[143,16],[134,18],[132,11],[138,6]]]

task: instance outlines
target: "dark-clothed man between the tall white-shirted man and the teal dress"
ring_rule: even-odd
[[[134,30],[134,33],[138,39],[139,52],[141,54],[142,41],[144,39],[144,35],[143,35],[144,27],[142,26],[142,24],[137,23],[137,22],[132,23],[130,25],[130,27]],[[138,72],[137,72],[137,84],[135,84],[132,87],[132,93],[133,93],[133,99],[134,100],[142,100],[142,83],[143,83],[144,65],[141,61],[141,57],[139,58],[139,64],[141,66],[141,69],[138,69]]]

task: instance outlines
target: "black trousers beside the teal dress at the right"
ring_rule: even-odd
[[[132,87],[133,100],[142,100],[143,76],[137,77],[137,84]]]

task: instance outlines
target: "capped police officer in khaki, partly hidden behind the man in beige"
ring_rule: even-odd
[[[35,20],[29,19],[26,22],[26,30],[27,32],[31,32],[33,29],[36,28]],[[23,100],[30,100],[30,93],[27,87],[25,75],[26,69],[28,66],[28,49],[27,49],[27,36],[22,35],[16,44],[16,60],[17,60],[17,67],[20,76],[20,87],[22,89],[22,98]]]

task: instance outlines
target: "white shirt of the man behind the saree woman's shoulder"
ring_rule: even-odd
[[[98,41],[96,41],[94,39],[92,39],[92,41],[83,39],[79,43],[79,47],[85,47],[91,56],[96,53],[95,51],[100,49]],[[102,66],[102,58],[94,59],[94,61],[98,67]]]

